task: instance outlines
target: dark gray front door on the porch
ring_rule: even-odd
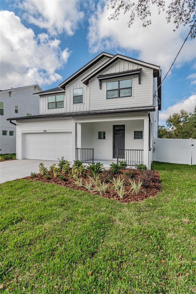
[[[117,158],[117,149],[125,149],[125,125],[113,126],[113,158]]]

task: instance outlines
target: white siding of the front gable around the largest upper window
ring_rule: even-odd
[[[153,70],[137,66],[130,62],[118,61],[107,70],[104,70],[100,74],[111,74],[121,72],[123,70],[133,70],[142,68],[141,70],[141,84],[138,83],[138,75],[124,77],[120,79],[111,79],[101,82],[101,89],[99,89],[99,81],[96,77],[89,81],[90,90],[90,110],[98,109],[112,109],[123,107],[140,107],[149,106],[153,103]],[[106,99],[107,96],[107,82],[115,80],[123,80],[132,78],[132,96]]]

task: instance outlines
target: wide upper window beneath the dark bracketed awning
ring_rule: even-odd
[[[132,79],[107,82],[107,99],[130,97],[132,95]]]

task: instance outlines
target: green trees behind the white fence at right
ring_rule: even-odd
[[[166,126],[159,126],[159,138],[196,139],[196,107],[193,112],[181,110],[170,115]]]

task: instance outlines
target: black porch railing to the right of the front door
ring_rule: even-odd
[[[119,161],[126,161],[127,165],[131,166],[144,163],[144,150],[118,149],[117,164]]]

